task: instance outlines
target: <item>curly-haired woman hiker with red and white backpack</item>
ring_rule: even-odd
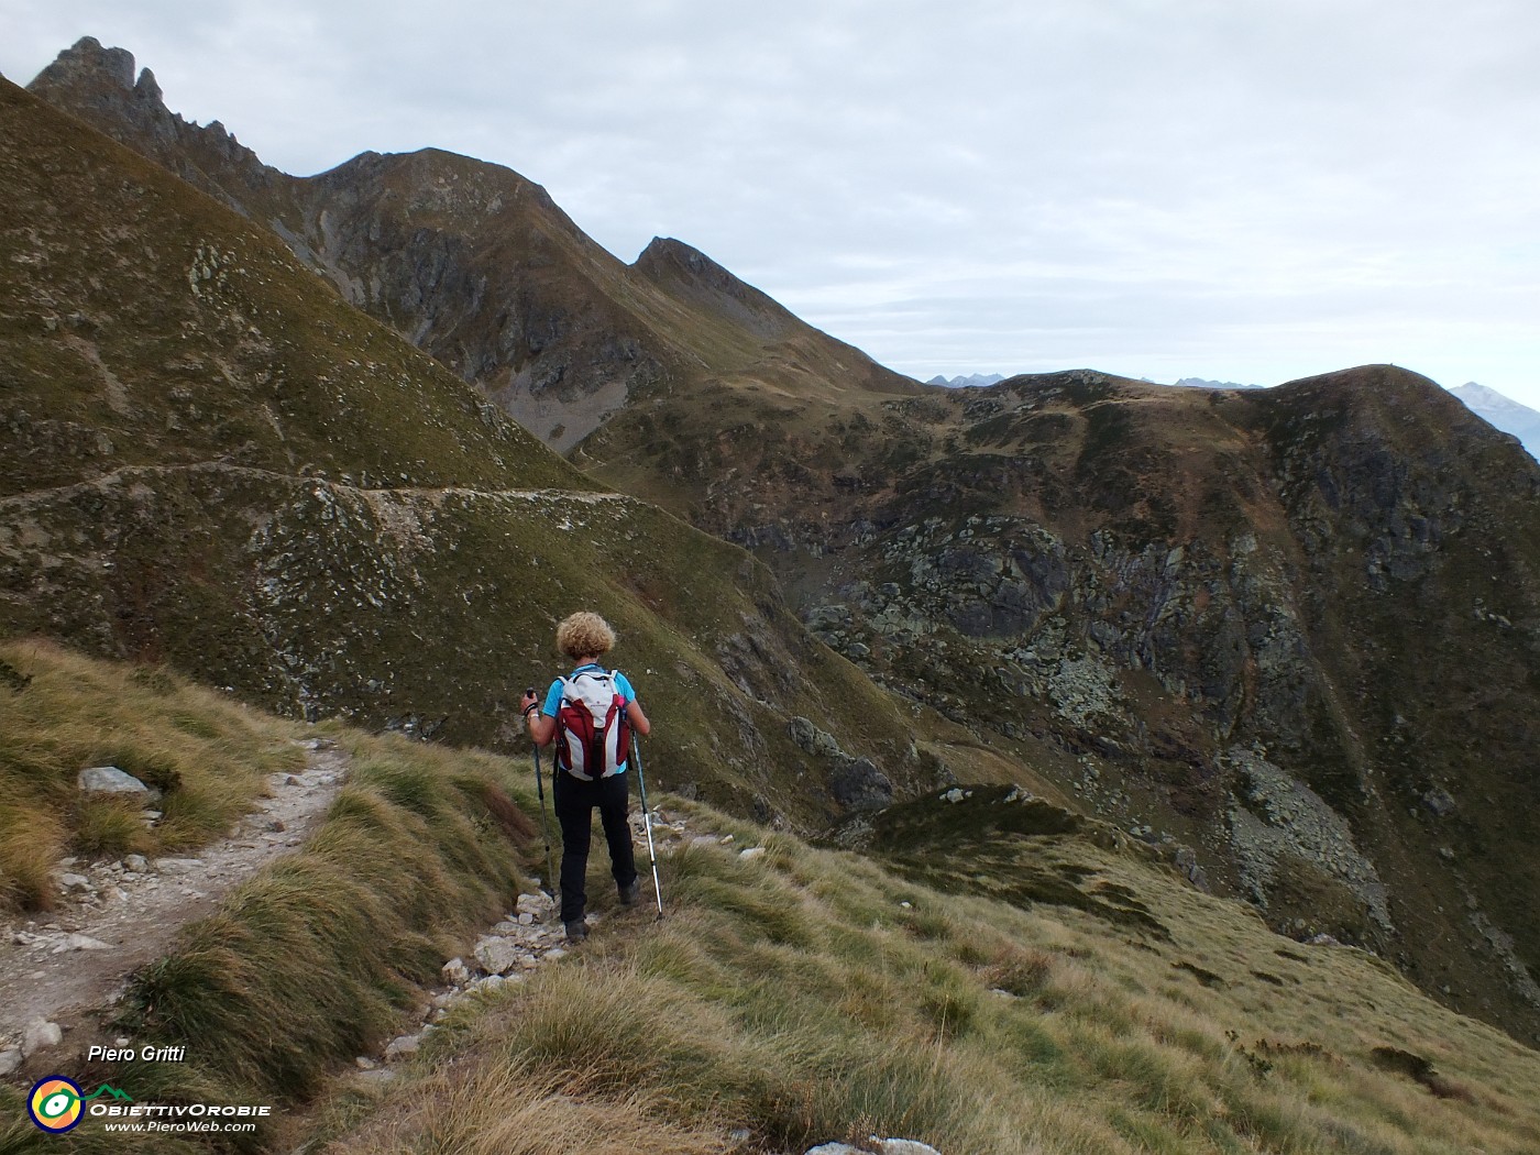
[[[551,682],[544,705],[528,691],[519,707],[534,744],[556,744],[551,788],[556,821],[562,827],[562,924],[567,938],[574,942],[588,933],[584,881],[594,807],[599,807],[599,821],[610,844],[610,873],[621,892],[621,904],[636,906],[642,896],[631,827],[625,818],[630,802],[625,770],[628,728],[645,738],[651,724],[625,675],[599,665],[613,647],[614,630],[604,618],[588,611],[571,614],[556,627],[556,648],[576,664],[571,675]]]

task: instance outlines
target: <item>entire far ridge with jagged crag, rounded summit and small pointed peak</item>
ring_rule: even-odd
[[[290,177],[223,126],[169,112],[154,75],[132,71],[131,54],[88,37],[29,88],[266,223],[350,303],[557,450],[628,397],[722,377],[798,391],[913,385],[679,242],[653,242],[634,266],[616,260],[505,168],[424,149]]]

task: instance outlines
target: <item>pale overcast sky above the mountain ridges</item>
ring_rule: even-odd
[[[0,0],[271,165],[427,145],[675,236],[916,377],[1274,385],[1394,362],[1540,408],[1534,0]]]

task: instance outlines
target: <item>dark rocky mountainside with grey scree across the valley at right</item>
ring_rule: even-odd
[[[667,479],[879,682],[1278,930],[1540,1027],[1540,471],[1432,382],[719,388],[630,422],[593,473]]]

